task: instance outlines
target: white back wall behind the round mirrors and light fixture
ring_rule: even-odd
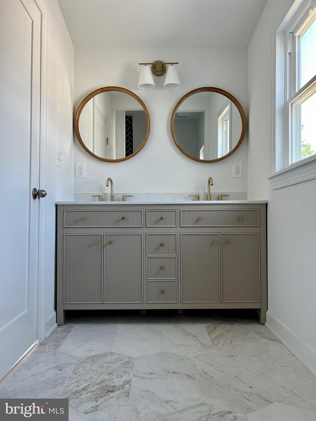
[[[141,71],[138,63],[155,60],[179,62],[180,89],[164,90],[164,76],[155,77],[154,90],[137,88]],[[86,162],[86,178],[75,179],[75,193],[108,193],[108,177],[113,178],[116,192],[127,194],[206,191],[209,176],[213,177],[213,191],[247,191],[247,134],[233,156],[215,163],[200,163],[180,153],[170,130],[171,114],[178,100],[202,86],[229,91],[247,115],[246,48],[75,49],[75,112],[89,92],[102,86],[127,88],[144,101],[151,119],[149,139],[135,157],[115,163],[93,158],[76,140],[75,161]],[[243,162],[243,178],[232,178],[233,161]]]

